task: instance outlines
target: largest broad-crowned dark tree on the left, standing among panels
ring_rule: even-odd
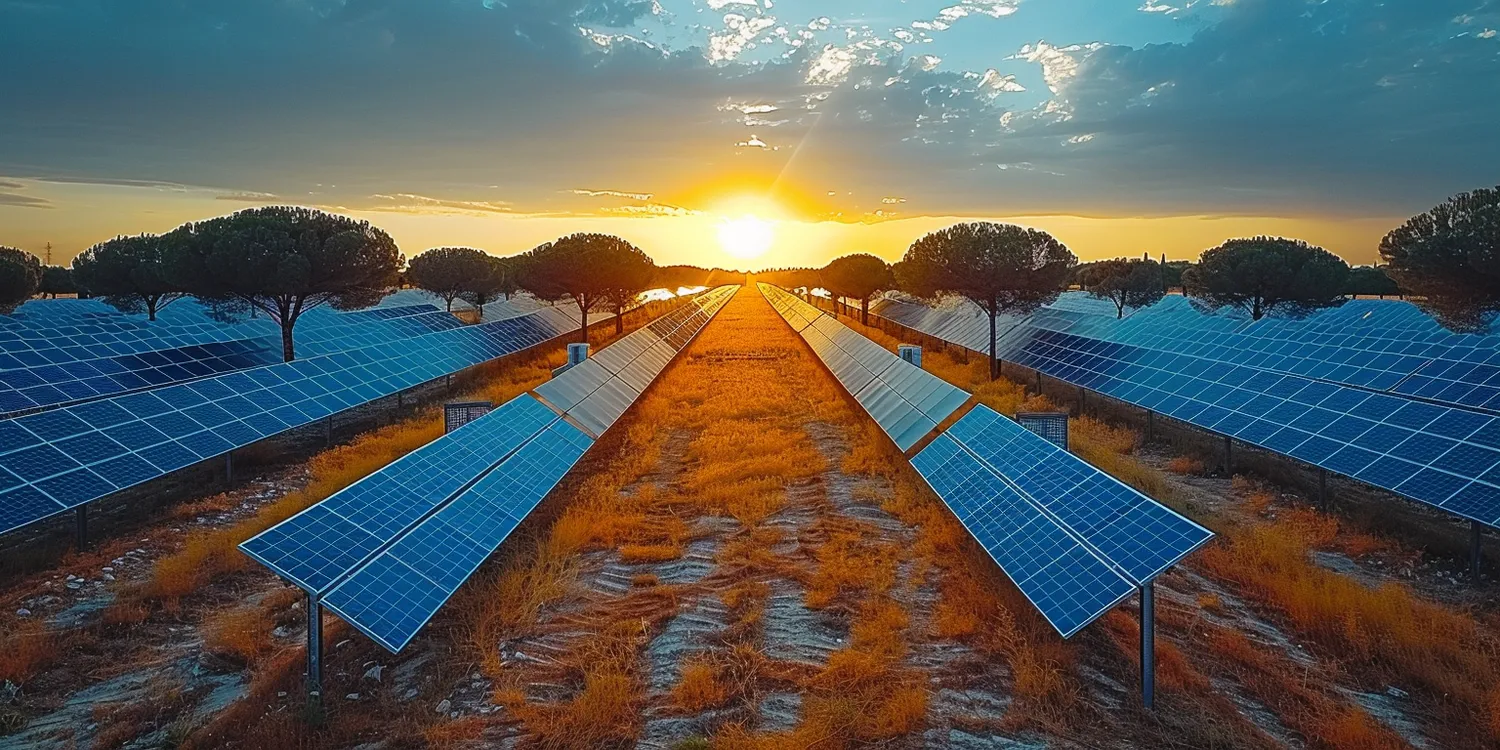
[[[375,304],[402,266],[384,231],[315,208],[246,208],[183,225],[171,237],[172,276],[219,318],[264,312],[280,326],[286,362],[296,358],[292,328],[303,314],[321,304]]]

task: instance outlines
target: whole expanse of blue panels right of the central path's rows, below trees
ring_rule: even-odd
[[[873,309],[922,333],[988,350],[987,321],[976,339],[974,315],[962,308],[885,300]],[[1202,315],[1180,297],[1124,321],[1044,309],[1008,321],[999,356],[1449,513],[1500,524],[1500,418],[1406,392],[1454,393],[1449,388],[1464,382],[1458,388],[1474,393],[1480,386],[1468,381],[1488,382],[1484,368],[1496,358],[1494,338],[1443,336],[1428,330],[1436,326],[1430,320],[1414,322],[1410,310],[1398,302],[1354,300],[1302,321],[1246,324]],[[1378,327],[1358,328],[1353,320]],[[1318,344],[1340,324],[1352,333]],[[1400,344],[1406,334],[1413,340]],[[1434,386],[1437,375],[1450,375],[1449,384]]]

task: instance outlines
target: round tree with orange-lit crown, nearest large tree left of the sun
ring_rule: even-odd
[[[628,256],[645,258],[636,246],[610,234],[570,234],[526,252],[520,285],[543,300],[573,300],[582,315],[580,340],[588,342],[588,312],[609,304],[621,284],[609,278]],[[645,258],[650,262],[650,258]]]

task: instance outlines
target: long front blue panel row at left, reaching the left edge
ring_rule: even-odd
[[[543,309],[0,422],[0,532],[576,328]]]

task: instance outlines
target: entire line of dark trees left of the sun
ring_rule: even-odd
[[[519,291],[570,300],[588,314],[614,312],[616,333],[634,298],[651,288],[699,286],[734,272],[690,266],[657,268],[639,248],[609,234],[572,234],[525,254],[498,258],[476,248],[434,248],[410,262],[369,222],[316,208],[268,206],[184,224],[165,234],[100,242],[70,268],[44,267],[0,246],[0,312],[36,294],[87,294],[154,321],[168,304],[195,297],[214,320],[266,315],[280,327],[282,357],[296,358],[292,332],[308,310],[369,308],[402,285],[444,300],[484,304]],[[742,282],[738,274],[736,282]]]

